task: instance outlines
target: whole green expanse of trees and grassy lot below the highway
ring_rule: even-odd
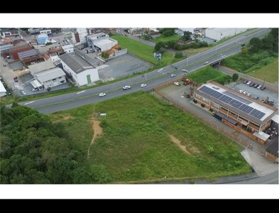
[[[125,111],[119,111],[123,106]],[[96,118],[102,121],[103,133],[87,160],[94,111],[106,117]],[[65,116],[72,119],[62,119]],[[209,146],[214,148],[210,154]],[[251,173],[241,149],[219,131],[146,92],[49,116],[17,104],[1,107],[2,184],[214,180]]]

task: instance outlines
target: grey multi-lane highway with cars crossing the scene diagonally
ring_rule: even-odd
[[[268,33],[268,31],[270,31],[269,28],[263,28],[260,31],[258,31],[258,29],[248,31],[244,34],[236,36],[235,38],[232,38],[231,40],[221,43],[214,48],[177,62],[173,64],[173,66],[180,70],[181,68],[185,67],[185,69],[187,69],[189,72],[193,72],[200,69],[201,67],[206,66],[203,64],[205,60],[207,60],[209,63],[212,63],[217,60],[224,59],[229,55],[239,53],[242,48],[241,43],[247,43],[251,38]],[[175,78],[182,77],[184,73],[180,70],[175,70],[171,66],[163,67],[159,70],[148,72],[145,77],[137,76],[93,89],[84,89],[82,92],[72,92],[70,94],[62,94],[60,96],[48,97],[30,102],[21,102],[19,104],[36,108],[40,113],[50,114],[55,111],[82,107],[87,104],[99,102],[100,100],[111,99],[124,94],[130,94],[141,89],[147,91],[155,86],[173,80],[173,78],[170,77],[170,73],[174,73],[176,75]],[[220,71],[225,72],[224,70]],[[143,82],[147,84],[147,87],[140,87],[140,84]],[[131,89],[124,91],[122,87],[125,85],[130,85]],[[101,92],[105,92],[106,97],[98,97],[98,94]]]

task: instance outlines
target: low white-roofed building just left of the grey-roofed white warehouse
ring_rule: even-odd
[[[41,85],[43,85],[45,89],[48,89],[48,87],[55,87],[60,84],[65,84],[67,82],[65,72],[59,67],[37,72],[35,73],[34,77],[36,80],[38,80],[38,82],[40,82]]]

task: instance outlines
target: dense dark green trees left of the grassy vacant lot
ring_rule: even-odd
[[[109,182],[103,166],[88,165],[86,152],[65,126],[35,109],[1,106],[1,184],[88,184]]]

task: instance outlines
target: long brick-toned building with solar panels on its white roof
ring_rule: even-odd
[[[213,81],[195,89],[194,99],[204,108],[212,109],[217,119],[241,133],[251,133],[251,138],[262,144],[269,137],[264,131],[278,114],[277,108]]]

